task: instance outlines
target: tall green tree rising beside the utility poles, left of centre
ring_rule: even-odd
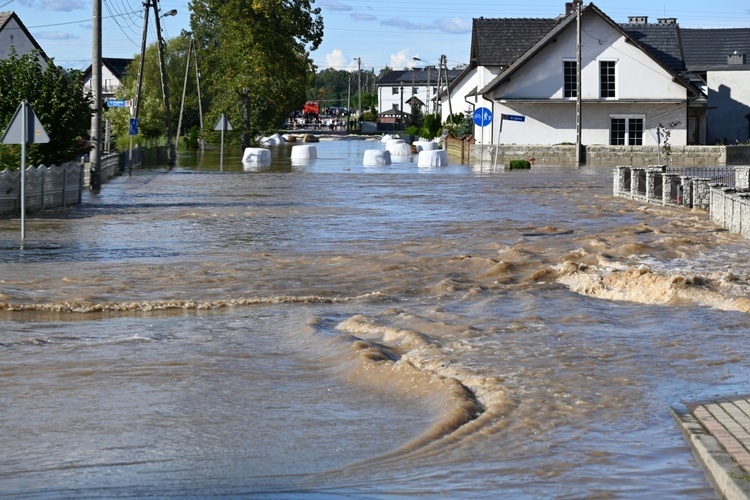
[[[190,26],[206,73],[208,123],[224,113],[242,146],[304,103],[314,77],[308,50],[323,39],[314,0],[191,0]],[[232,134],[230,134],[231,139]]]

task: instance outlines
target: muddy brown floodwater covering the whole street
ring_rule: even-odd
[[[0,495],[680,498],[748,241],[610,167],[183,155],[0,219]]]

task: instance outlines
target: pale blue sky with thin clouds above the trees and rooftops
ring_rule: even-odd
[[[674,17],[685,28],[750,28],[748,0],[600,0],[594,2],[615,22],[628,16]],[[5,5],[3,5],[5,4]],[[187,0],[161,0],[163,35],[188,29]],[[510,2],[486,0],[316,0],[322,9],[325,36],[312,56],[319,69],[379,71],[388,66],[437,65],[445,54],[449,67],[468,63],[471,22],[475,17],[555,17],[564,1]],[[0,11],[15,11],[42,48],[58,65],[84,69],[91,64],[92,3],[83,0],[0,0]],[[140,51],[141,0],[103,0],[102,52],[105,57],[133,57]],[[156,39],[153,17],[149,43]],[[415,62],[414,57],[421,59]]]

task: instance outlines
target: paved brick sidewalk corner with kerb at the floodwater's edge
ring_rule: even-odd
[[[750,499],[750,396],[685,403],[673,410],[693,454],[721,498]]]

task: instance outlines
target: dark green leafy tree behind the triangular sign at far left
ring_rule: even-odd
[[[0,60],[1,126],[10,123],[25,99],[50,139],[28,146],[27,166],[60,164],[88,151],[92,100],[82,89],[81,71],[66,71],[52,60],[42,69],[36,52],[19,56],[13,51]],[[20,145],[0,145],[0,170],[17,169],[20,164]]]

